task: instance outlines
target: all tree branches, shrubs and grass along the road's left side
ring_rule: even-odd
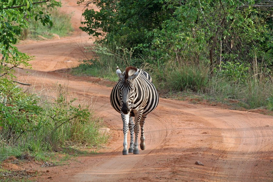
[[[103,121],[93,112],[94,103],[71,98],[67,86],[58,85],[56,96],[46,98],[35,94],[33,87],[32,92],[22,88],[29,84],[15,81],[14,69],[31,68],[28,62],[34,59],[15,46],[24,30],[33,30],[29,27],[37,25],[36,20],[49,29],[52,27],[51,31],[54,23],[62,24],[47,12],[47,8],[60,6],[59,2],[39,3],[43,2],[0,2],[0,164],[10,156],[46,162],[52,161],[54,156],[66,156],[66,153],[81,154],[82,149],[96,152],[109,137],[100,129]],[[51,15],[60,15],[55,10],[52,12]],[[69,16],[65,16],[67,18]],[[35,32],[42,29],[37,27]],[[0,170],[0,180],[2,172]]]

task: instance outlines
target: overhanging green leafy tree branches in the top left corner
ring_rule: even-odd
[[[43,25],[52,26],[50,16],[43,12],[42,8],[35,8],[35,5],[47,3],[47,6],[60,6],[54,0],[2,0],[0,2],[0,54],[2,54],[2,64],[5,64],[9,56],[19,57],[24,54],[19,52],[15,44],[21,35],[22,29],[27,28],[27,19],[35,18]],[[39,6],[41,7],[41,6]]]

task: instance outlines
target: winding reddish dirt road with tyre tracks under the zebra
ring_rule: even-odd
[[[47,168],[49,172],[36,180],[273,180],[273,117],[257,113],[160,99],[145,124],[146,150],[139,155],[123,156],[122,121],[109,100],[112,87],[97,84],[104,83],[101,79],[67,73],[66,68],[84,58],[83,46],[92,40],[78,29],[83,8],[73,0],[62,2],[64,11],[74,12],[75,33],[61,39],[22,42],[19,49],[36,59],[31,62],[32,73],[19,79],[35,85],[41,94],[56,95],[56,83],[68,84],[71,96],[96,100],[94,108],[110,128],[112,137],[101,153]],[[20,74],[24,72],[18,70]],[[204,166],[196,165],[196,161]]]

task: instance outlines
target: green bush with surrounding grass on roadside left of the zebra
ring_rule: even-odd
[[[0,77],[0,140],[4,145],[2,159],[59,150],[68,146],[99,147],[108,136],[100,132],[102,120],[89,105],[75,105],[76,99],[66,100],[60,86],[53,102],[41,102],[32,94],[22,92],[6,78]]]

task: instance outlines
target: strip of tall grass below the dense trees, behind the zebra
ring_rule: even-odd
[[[226,62],[222,64],[221,69],[215,69],[211,74],[207,63],[196,64],[192,61],[194,59],[168,60],[163,64],[159,63],[162,60],[158,60],[157,65],[141,64],[139,59],[132,58],[132,50],[110,50],[113,49],[107,46],[99,46],[99,51],[98,47],[95,47],[94,51],[98,57],[82,61],[72,73],[117,81],[116,66],[125,68],[133,65],[148,71],[154,85],[163,94],[191,90],[218,101],[238,99],[241,106],[248,109],[261,106],[273,109],[273,78],[270,76],[270,70],[260,68],[257,62],[251,65]]]

